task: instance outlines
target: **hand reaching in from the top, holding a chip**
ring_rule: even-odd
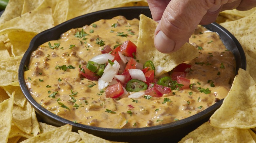
[[[177,51],[195,31],[198,24],[214,22],[223,10],[249,10],[256,0],[147,0],[155,31],[155,47],[162,53]]]

